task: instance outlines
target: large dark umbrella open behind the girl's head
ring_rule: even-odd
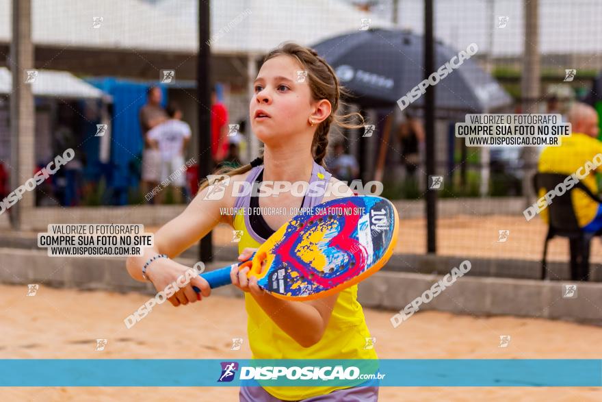
[[[368,29],[324,40],[313,49],[335,68],[341,84],[357,97],[354,102],[364,108],[378,108],[395,105],[423,81],[423,42],[421,36],[407,31]],[[437,42],[436,66],[443,66],[458,52]],[[512,102],[474,59],[465,59],[436,88],[438,109],[493,112]],[[423,100],[419,97],[410,107],[421,107]]]

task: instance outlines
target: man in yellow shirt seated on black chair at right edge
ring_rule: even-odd
[[[602,142],[598,137],[598,114],[594,108],[585,103],[575,103],[568,112],[568,121],[571,123],[573,134],[562,138],[559,147],[547,147],[539,158],[538,171],[540,173],[561,173],[573,175],[575,172],[587,172],[586,164],[592,165],[592,160],[602,154]],[[595,158],[596,160],[601,157]],[[578,173],[580,176],[583,173]],[[593,194],[598,194],[595,170],[590,171],[581,179],[581,182]],[[540,197],[542,194],[540,194]],[[578,188],[571,193],[575,216],[579,227],[584,231],[595,233],[602,229],[602,204],[588,197]],[[547,222],[547,210],[542,210],[542,218]]]

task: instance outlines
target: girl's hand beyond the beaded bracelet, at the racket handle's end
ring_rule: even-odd
[[[180,281],[184,281],[185,273],[189,269],[194,269],[189,266],[185,266],[183,264],[179,264],[174,260],[168,260],[166,258],[159,258],[154,261],[153,264],[150,264],[148,268],[146,268],[146,276],[155,286],[157,292],[162,292],[165,288],[174,282],[179,277],[182,277]],[[176,285],[177,287],[178,285]],[[200,289],[200,293],[194,291],[192,286],[196,286]],[[200,301],[201,297],[209,297],[211,294],[211,288],[209,287],[209,283],[200,277],[200,275],[194,275],[182,288],[179,288],[178,291],[170,297],[168,300],[174,307],[177,307],[181,304],[187,305],[188,303],[194,303],[196,301]]]

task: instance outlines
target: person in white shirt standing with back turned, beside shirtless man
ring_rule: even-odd
[[[186,166],[184,149],[190,139],[191,131],[188,123],[181,121],[182,112],[175,103],[167,108],[169,119],[146,134],[153,148],[161,154],[161,190],[166,186],[175,187],[174,199],[181,202],[182,189],[186,184]],[[161,202],[161,192],[157,194]]]

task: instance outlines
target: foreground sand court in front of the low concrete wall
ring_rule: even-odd
[[[85,292],[40,286],[0,286],[3,336],[0,358],[208,359],[250,358],[246,312],[239,298],[211,296],[201,303],[161,305],[127,329],[123,319],[145,294]],[[381,358],[600,358],[602,328],[536,318],[458,316],[419,312],[394,329],[393,312],[365,309]],[[499,336],[512,340],[499,348]],[[106,338],[104,351],[94,351]],[[232,351],[232,338],[243,338]],[[0,388],[2,401],[237,401],[238,388]],[[380,401],[599,401],[599,388],[380,388]]]

